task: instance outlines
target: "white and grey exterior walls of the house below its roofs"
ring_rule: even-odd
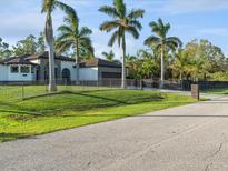
[[[30,73],[21,73],[20,69],[18,73],[11,73],[10,64],[0,64],[0,81],[46,81],[48,79],[49,72],[49,60],[48,59],[36,59],[30,60],[37,66],[30,66]],[[19,68],[21,64],[18,64]],[[70,80],[76,81],[77,79],[77,69],[73,61],[63,61],[54,60],[57,80],[62,80],[62,70],[69,69]],[[31,67],[36,68],[34,73],[31,73]],[[80,81],[98,81],[101,79],[120,79],[121,68],[111,68],[111,67],[87,67],[79,69],[79,80]],[[118,76],[118,78],[116,78]]]

